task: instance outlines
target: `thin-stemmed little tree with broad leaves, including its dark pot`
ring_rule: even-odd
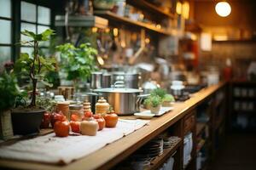
[[[18,107],[12,110],[12,122],[15,134],[38,133],[44,108],[36,105],[37,101],[37,84],[43,82],[45,85],[50,84],[44,80],[47,71],[55,70],[55,59],[46,58],[38,54],[40,42],[48,41],[53,35],[53,30],[47,29],[40,34],[32,31],[21,31],[21,34],[29,37],[30,40],[21,42],[33,47],[33,54],[21,53],[20,59],[15,63],[15,72],[20,76],[29,77],[32,82],[31,102],[30,105]]]

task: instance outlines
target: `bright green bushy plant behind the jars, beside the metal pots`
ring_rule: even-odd
[[[96,48],[90,47],[90,43],[82,43],[78,48],[71,43],[57,46],[61,53],[61,68],[67,74],[67,80],[73,81],[76,91],[79,82],[90,77],[92,71],[96,71]]]

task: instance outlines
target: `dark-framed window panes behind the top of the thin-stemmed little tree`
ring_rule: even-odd
[[[50,28],[50,9],[21,1],[20,3],[20,31],[28,30],[41,33]],[[28,41],[29,38],[20,35],[21,41]],[[41,42],[39,44],[42,51],[46,51],[49,48],[49,42]],[[21,46],[21,53],[31,54],[33,49],[29,46]]]

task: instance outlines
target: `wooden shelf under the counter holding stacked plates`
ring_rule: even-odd
[[[172,156],[172,154],[177,150],[177,148],[181,144],[182,144],[182,139],[179,139],[177,141],[177,144],[175,144],[171,148],[164,149],[164,152],[161,156],[157,156],[153,161],[151,161],[150,167],[148,167],[147,170],[157,169],[158,167],[160,167],[160,165],[162,165],[168,157]]]

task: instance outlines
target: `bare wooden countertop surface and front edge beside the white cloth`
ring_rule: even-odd
[[[146,144],[150,139],[166,130],[167,127],[172,126],[175,122],[180,120],[189,111],[195,109],[196,105],[201,104],[204,99],[207,99],[213,93],[218,91],[219,88],[224,87],[225,82],[209,88],[203,88],[198,93],[185,102],[176,103],[174,110],[166,113],[163,116],[151,119],[149,126],[140,128],[134,133],[119,139],[112,144],[108,144],[101,150],[84,156],[83,158],[73,161],[72,163],[64,166],[43,164],[28,161],[11,161],[0,159],[0,167],[10,167],[16,169],[45,169],[45,170],[65,170],[65,169],[109,169],[116,165],[119,161],[124,160],[130,156],[135,150]],[[125,118],[125,116],[122,118]]]

